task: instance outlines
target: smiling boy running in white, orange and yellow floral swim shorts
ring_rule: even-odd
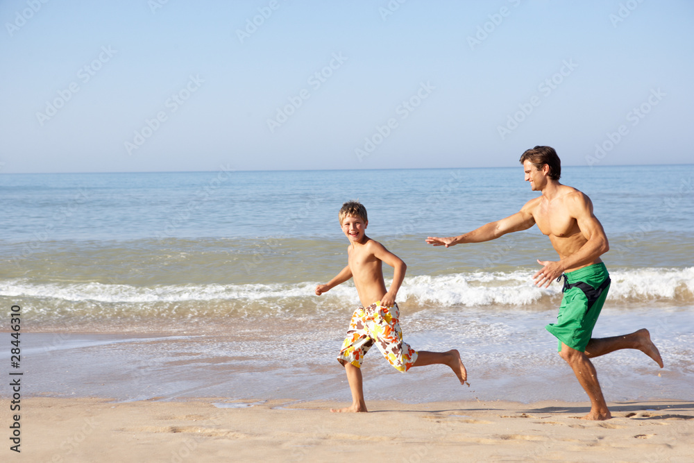
[[[362,360],[366,351],[375,344],[396,370],[405,373],[410,367],[444,364],[453,370],[464,384],[467,372],[460,354],[455,349],[448,352],[414,351],[403,342],[400,330],[400,310],[395,303],[398,289],[405,278],[407,265],[397,255],[389,252],[379,242],[366,236],[366,208],[357,201],[342,205],[339,212],[340,226],[349,239],[347,267],[330,280],[327,285],[316,286],[320,296],[333,287],[354,278],[362,307],[355,310],[347,330],[347,337],[337,356],[347,373],[352,405],[331,412],[367,412],[362,390]],[[393,283],[388,291],[383,280],[382,262],[394,269]]]

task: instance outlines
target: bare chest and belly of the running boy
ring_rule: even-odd
[[[347,249],[347,264],[363,307],[380,301],[387,292],[383,281],[383,262],[373,255],[373,244],[373,239],[364,236],[361,243],[350,244]]]

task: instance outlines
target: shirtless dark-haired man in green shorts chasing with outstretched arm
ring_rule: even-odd
[[[541,192],[541,196],[531,199],[519,212],[505,219],[457,237],[428,237],[426,242],[447,248],[459,243],[479,243],[537,224],[550,238],[559,260],[538,260],[542,269],[533,276],[535,284],[548,287],[552,280],[558,281],[564,276],[564,298],[557,323],[545,328],[559,339],[559,355],[573,369],[591,399],[591,412],[584,419],[610,419],[595,367],[589,359],[633,348],[651,357],[661,368],[663,360],[645,328],[629,335],[591,337],[610,283],[607,269],[600,260],[600,255],[609,250],[607,236],[593,215],[589,197],[559,183],[561,162],[554,149],[535,146],[521,155],[521,164],[525,180],[530,182],[533,191]]]

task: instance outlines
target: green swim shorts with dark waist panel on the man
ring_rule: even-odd
[[[564,298],[557,323],[545,326],[559,339],[559,351],[562,342],[577,351],[586,351],[609,285],[609,274],[602,262],[564,273]]]

